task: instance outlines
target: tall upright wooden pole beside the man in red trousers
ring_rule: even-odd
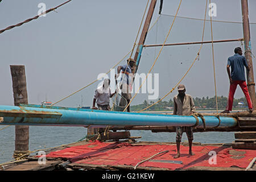
[[[248,17],[248,2],[247,0],[241,0],[242,4],[242,18],[243,18],[243,38],[245,43],[245,58],[247,64],[250,66],[249,72],[247,73],[247,86],[251,97],[251,102],[253,103],[253,109],[255,110],[255,83],[253,76],[253,57],[251,53],[251,41],[250,41],[250,24]]]

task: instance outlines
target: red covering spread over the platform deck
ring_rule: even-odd
[[[176,146],[167,144],[143,144],[133,145],[130,143],[104,143],[90,142],[81,146],[65,148],[64,150],[50,152],[47,158],[64,158],[77,164],[96,164],[96,165],[129,165],[135,166],[138,162],[150,158],[152,155],[161,151],[169,152],[158,155],[154,160],[161,162],[145,162],[139,166],[159,167],[167,169],[187,169],[190,167],[240,167],[246,168],[251,160],[255,158],[255,150],[237,150],[225,146],[193,146],[195,155],[188,155],[188,147],[180,146],[181,157],[174,159]],[[210,151],[217,154],[217,164],[209,164]],[[183,164],[164,163],[165,160],[182,161]]]

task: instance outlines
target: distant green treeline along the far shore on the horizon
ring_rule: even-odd
[[[196,97],[196,98],[193,98],[193,101],[195,103],[197,110],[198,109],[216,109],[215,96],[211,98],[209,98],[208,96],[203,98]],[[224,96],[217,97],[218,109],[219,110],[225,109],[227,101],[228,101],[227,97],[224,97]],[[238,105],[238,103],[240,104]],[[150,106],[151,104],[154,104],[154,102],[153,101],[148,102],[145,100],[143,104],[131,106],[131,111],[142,110],[147,106]],[[245,97],[238,98],[238,99],[234,98],[233,109],[244,109],[244,108],[247,108],[246,98]],[[170,99],[169,101],[160,101],[158,102],[158,104],[155,104],[154,106],[148,108],[145,111],[162,111],[162,110],[173,110],[173,109],[174,109],[174,101]]]

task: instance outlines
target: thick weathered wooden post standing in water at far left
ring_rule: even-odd
[[[14,105],[28,104],[27,84],[24,65],[10,65],[13,79]],[[24,154],[28,151],[29,126],[15,126],[15,154]]]

